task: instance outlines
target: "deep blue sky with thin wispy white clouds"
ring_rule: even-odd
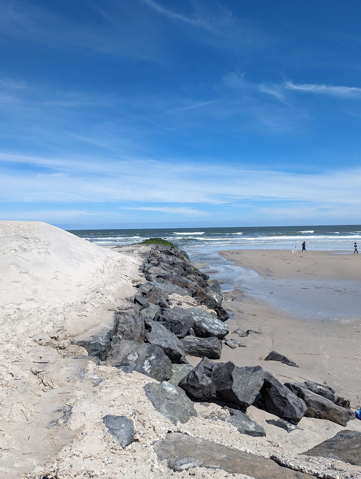
[[[360,2],[0,0],[0,217],[359,224]]]

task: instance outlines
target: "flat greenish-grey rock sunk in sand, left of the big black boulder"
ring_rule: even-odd
[[[178,386],[163,381],[160,384],[146,384],[144,389],[155,409],[174,424],[187,422],[192,416],[197,416],[194,402]]]

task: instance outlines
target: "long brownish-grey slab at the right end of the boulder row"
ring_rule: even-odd
[[[328,419],[340,426],[346,426],[350,419],[355,418],[354,413],[348,409],[337,406],[329,399],[303,388],[303,383],[285,382],[284,385],[299,398],[303,399],[307,406],[305,416],[309,418]]]

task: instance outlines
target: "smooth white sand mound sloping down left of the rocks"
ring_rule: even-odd
[[[134,256],[46,223],[0,222],[0,464],[14,477],[11,464],[29,471],[66,440],[66,433],[47,430],[67,400],[64,386],[79,373],[62,353],[69,339],[106,323],[134,294],[131,279],[139,265]]]

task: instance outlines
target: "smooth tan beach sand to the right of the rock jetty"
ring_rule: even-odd
[[[222,251],[221,255],[239,266],[252,268],[259,274],[281,280],[287,278],[323,279],[332,277],[342,283],[345,279],[359,279],[361,265],[357,255],[335,254],[329,251],[313,251],[308,256],[292,254],[289,251],[275,250],[242,250]],[[355,258],[354,258],[355,256]],[[312,279],[310,279],[312,282]],[[230,332],[238,328],[252,329],[260,334],[251,334],[240,338],[231,334],[234,339],[247,345],[246,348],[223,348],[221,361],[232,360],[238,365],[258,364],[277,376],[281,382],[286,380],[314,380],[327,384],[337,390],[342,397],[349,398],[351,407],[361,407],[361,318],[337,320],[314,320],[287,311],[286,308],[273,306],[275,298],[269,300],[253,297],[242,288],[226,294],[225,308],[233,313],[228,320]],[[325,305],[326,306],[326,305]],[[299,368],[284,365],[275,361],[263,360],[267,354],[276,350],[294,360]],[[254,418],[260,422],[272,438],[295,450],[307,450],[320,437],[331,437],[341,426],[328,421],[303,418],[300,426],[306,432],[283,434],[279,429],[273,430],[262,421],[259,411],[254,409]],[[263,415],[264,412],[262,411]],[[349,422],[347,429],[361,431],[361,422]],[[297,437],[299,435],[299,437]],[[281,439],[281,436],[283,438]],[[276,438],[273,437],[275,440]],[[293,440],[293,441],[291,441]]]

